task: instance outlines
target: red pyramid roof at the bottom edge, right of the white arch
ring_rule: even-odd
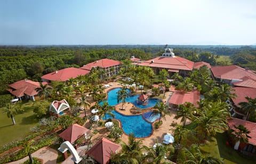
[[[118,149],[119,145],[115,144],[106,138],[102,138],[95,145],[86,152],[87,155],[91,155],[94,160],[101,164],[105,164],[109,161],[111,153]]]

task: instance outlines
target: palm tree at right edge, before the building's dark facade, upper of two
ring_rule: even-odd
[[[246,120],[249,118],[251,112],[255,112],[256,109],[256,99],[251,97],[245,97],[248,102],[240,102],[238,105],[241,105],[241,109],[246,111]]]

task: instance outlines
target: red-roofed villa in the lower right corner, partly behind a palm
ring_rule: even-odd
[[[233,129],[237,132],[237,129],[235,126],[243,125],[246,127],[247,130],[249,130],[251,133],[248,134],[250,136],[248,138],[248,143],[238,143],[237,149],[240,150],[242,153],[245,154],[254,154],[256,153],[256,123],[245,121],[237,118],[228,118],[228,126],[230,129]],[[237,141],[233,141],[233,145],[236,144]],[[236,147],[234,147],[236,149]]]

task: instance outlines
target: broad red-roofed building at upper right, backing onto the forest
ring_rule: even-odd
[[[252,83],[252,81],[254,81],[255,83],[256,80],[256,73],[251,70],[238,67],[237,65],[217,66],[212,67],[211,70],[215,80],[224,81],[226,84],[229,85],[234,85],[234,83],[244,80],[248,81],[249,83]],[[242,84],[245,85],[245,87],[248,86],[248,84],[244,82]],[[239,86],[241,86],[241,84]]]

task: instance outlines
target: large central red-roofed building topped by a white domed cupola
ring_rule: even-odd
[[[141,62],[138,65],[153,68],[156,75],[158,75],[159,71],[161,71],[162,69],[166,69],[166,71],[169,72],[170,77],[175,72],[178,72],[179,75],[182,77],[187,77],[190,71],[192,71],[195,67],[196,69],[199,69],[200,67],[202,67],[202,65],[207,65],[207,67],[211,67],[209,63],[194,63],[193,61],[187,60],[185,58],[175,56],[172,48],[165,48],[162,56]]]

